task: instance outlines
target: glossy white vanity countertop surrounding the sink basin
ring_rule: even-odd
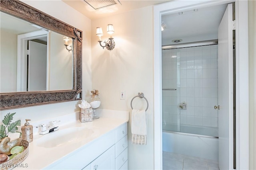
[[[34,134],[34,139],[29,143],[29,154],[28,157],[20,164],[21,167],[16,167],[14,170],[25,169],[25,170],[39,170],[46,168],[50,164],[64,158],[68,154],[79,150],[81,147],[92,143],[97,140],[102,135],[116,129],[120,125],[128,122],[129,112],[128,111],[112,111],[112,110],[103,110],[98,109],[99,113],[97,115],[100,116],[99,119],[94,119],[92,122],[84,122],[81,123],[77,120],[77,115],[79,113],[72,113],[76,115],[75,121],[62,122],[59,125],[59,130],[54,131],[50,134],[39,135],[38,133]],[[58,118],[58,117],[57,117]],[[66,117],[65,119],[67,119]],[[53,119],[54,120],[54,119]],[[69,120],[69,119],[68,119]],[[63,129],[70,127],[85,127],[84,133],[86,131],[90,131],[89,133],[92,135],[86,136],[83,140],[78,142],[72,141],[60,145],[58,147],[39,147],[38,141],[42,137],[46,138],[47,135],[56,134]],[[34,127],[35,128],[35,127]],[[34,130],[35,131],[35,130]],[[75,133],[75,132],[74,132]],[[50,136],[49,136],[50,137]],[[72,138],[72,136],[67,136],[67,138]],[[90,153],[86,153],[90,154]]]

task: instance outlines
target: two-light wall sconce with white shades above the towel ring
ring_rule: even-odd
[[[96,35],[98,35],[99,37],[99,43],[100,43],[100,46],[103,47],[103,49],[106,47],[106,49],[108,50],[112,50],[114,49],[115,47],[115,41],[114,41],[114,38],[112,38],[112,34],[114,33],[114,27],[113,27],[113,24],[108,24],[107,26],[107,33],[110,34],[110,38],[106,41],[104,41],[105,45],[102,45],[101,44],[101,36],[103,35],[103,31],[102,31],[102,27],[97,27],[96,28]]]

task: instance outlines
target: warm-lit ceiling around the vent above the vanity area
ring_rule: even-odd
[[[162,4],[164,2],[169,2],[171,0],[117,0],[116,5],[109,6],[107,8],[101,8],[98,10],[94,10],[90,5],[88,5],[84,0],[62,0],[78,12],[84,14],[91,20],[97,18],[103,18],[107,16],[112,16],[124,12],[128,12],[130,10],[135,10],[138,8],[152,6],[156,4]],[[97,1],[97,0],[96,0]]]

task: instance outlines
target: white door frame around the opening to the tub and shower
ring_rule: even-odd
[[[162,169],[161,16],[235,2],[236,10],[236,168],[249,169],[248,1],[187,0],[154,6],[154,169]]]

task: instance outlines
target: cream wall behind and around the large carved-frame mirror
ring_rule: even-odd
[[[45,1],[45,0],[28,0],[23,1],[42,12],[45,12],[59,20],[62,20],[80,30],[83,31],[83,51],[82,51],[82,98],[90,96],[86,93],[91,90],[91,21],[77,12],[64,2],[60,0]],[[72,14],[72,15],[71,15]],[[64,48],[64,45],[63,45]],[[25,119],[31,119],[32,121],[38,121],[56,117],[58,115],[64,115],[78,111],[81,101],[64,102],[59,104],[49,104],[43,106],[25,107],[20,109],[4,110],[1,111],[1,120],[7,113],[16,112],[14,120],[21,119],[21,123],[25,123]]]

